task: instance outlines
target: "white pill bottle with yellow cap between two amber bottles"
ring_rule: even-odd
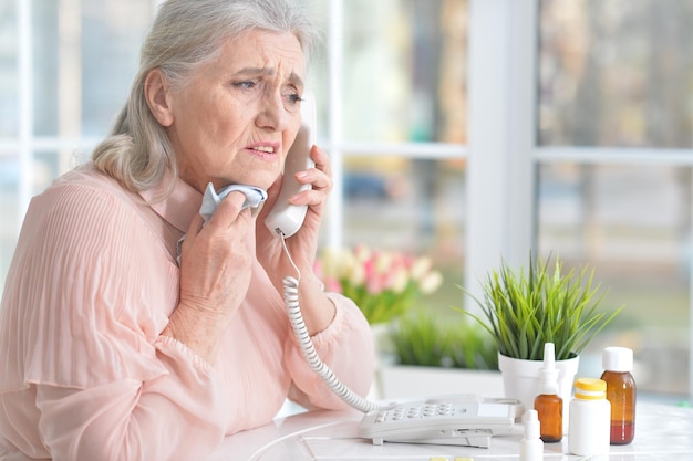
[[[611,404],[607,383],[597,378],[578,378],[568,416],[568,450],[590,457],[609,452]]]

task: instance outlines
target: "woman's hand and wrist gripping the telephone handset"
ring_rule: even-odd
[[[299,302],[303,318],[309,333],[314,334],[324,329],[334,316],[334,306],[322,293],[322,282],[313,272],[320,223],[332,190],[332,170],[329,157],[319,147],[313,146],[310,155],[316,163],[314,168],[297,172],[296,180],[310,184],[312,188],[289,199],[292,205],[307,205],[308,211],[301,228],[296,234],[286,239],[286,243],[293,263],[300,271]],[[285,254],[281,239],[265,226],[265,218],[272,209],[283,180],[287,178],[279,178],[269,188],[269,197],[258,217],[259,224],[257,226],[258,260],[280,293],[283,290],[285,276],[298,279],[299,275]]]

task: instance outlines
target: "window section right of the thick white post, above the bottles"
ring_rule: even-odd
[[[639,389],[673,395],[691,388],[692,20],[681,1],[540,9],[539,248],[625,305],[591,350],[632,347]]]

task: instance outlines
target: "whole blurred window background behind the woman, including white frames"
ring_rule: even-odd
[[[625,308],[586,369],[631,347],[640,390],[690,398],[693,0],[306,3],[323,244],[431,255],[441,316],[501,255],[588,264]],[[0,0],[0,280],[30,198],[107,134],[156,7]]]

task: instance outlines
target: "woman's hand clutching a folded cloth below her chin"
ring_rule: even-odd
[[[213,364],[221,335],[250,285],[255,219],[246,196],[231,192],[203,227],[196,214],[180,256],[180,297],[163,334]]]

